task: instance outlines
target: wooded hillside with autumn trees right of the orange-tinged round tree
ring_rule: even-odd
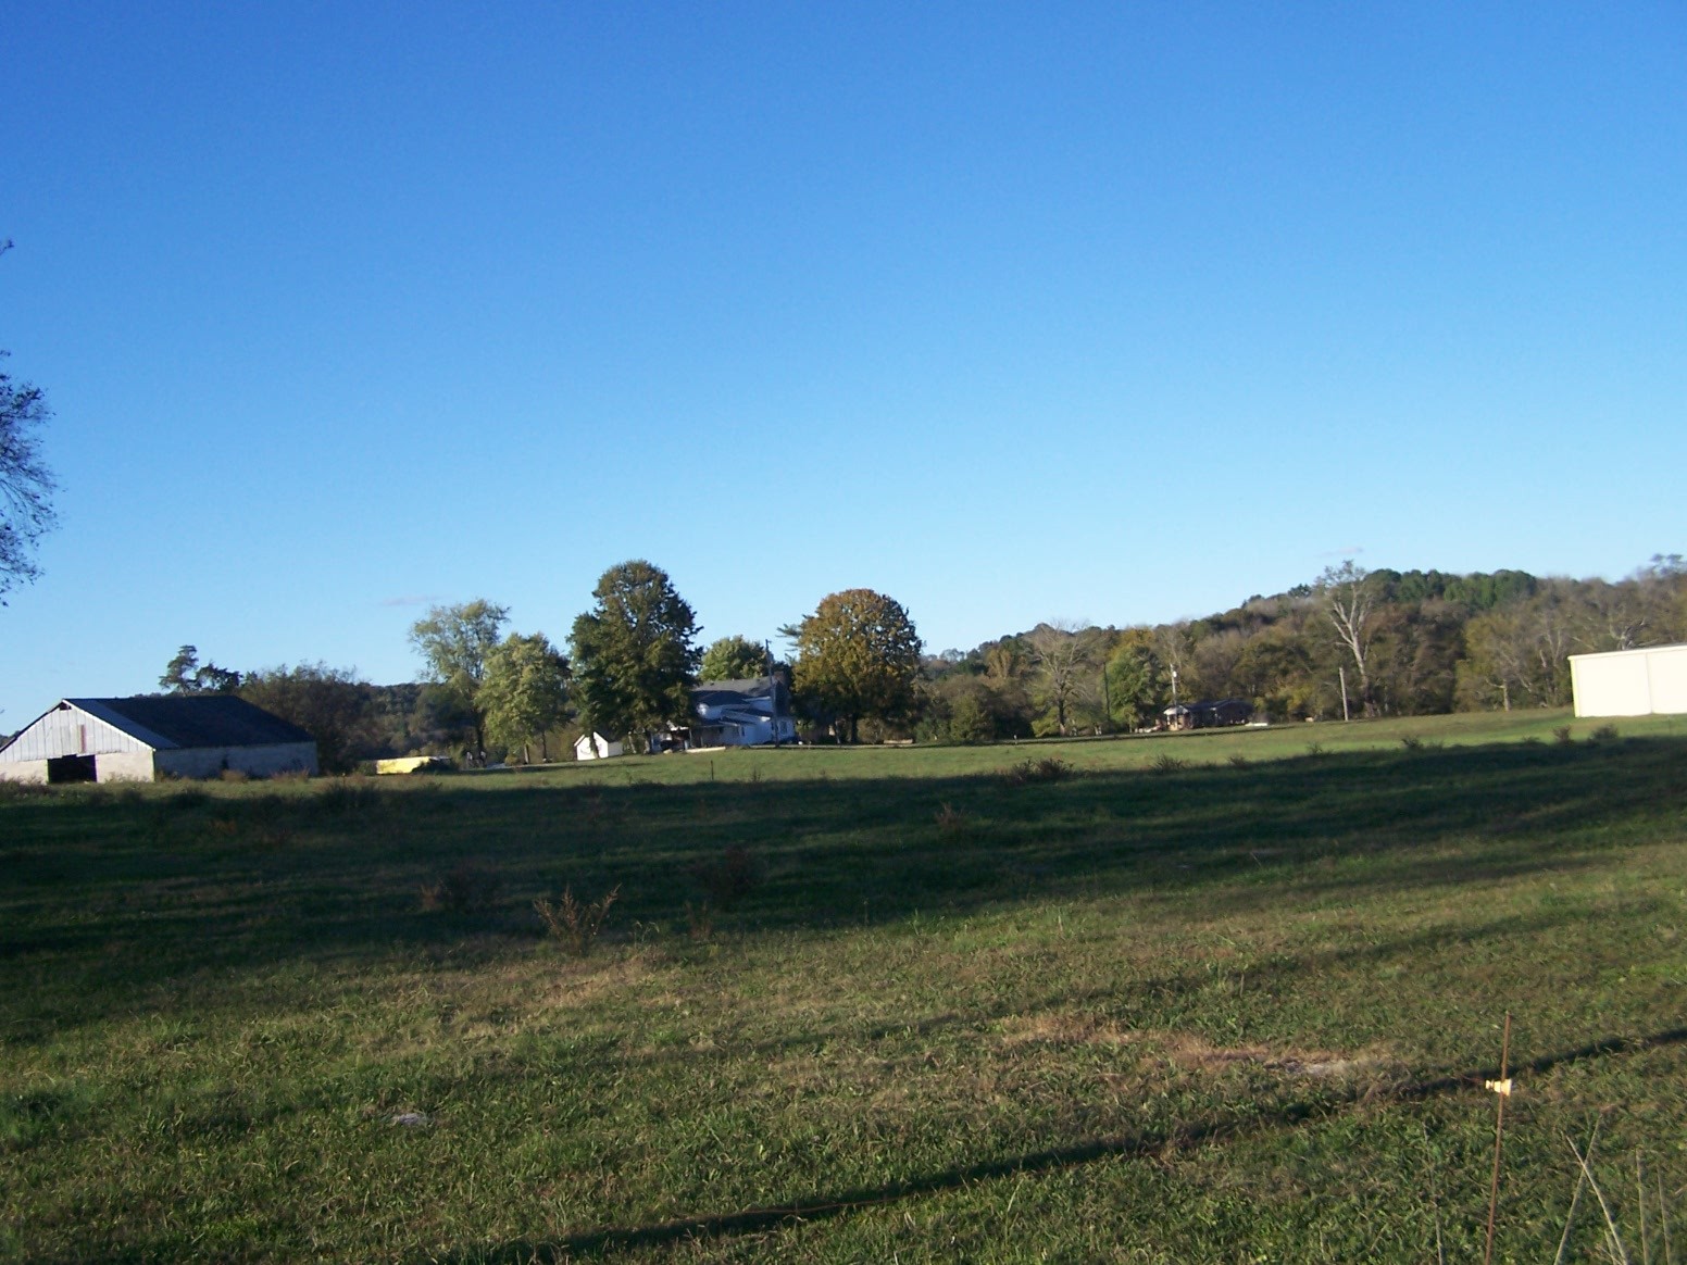
[[[1569,656],[1687,641],[1687,568],[1625,580],[1333,567],[1314,584],[1154,627],[1039,624],[926,661],[928,740],[1093,734],[1172,702],[1245,698],[1274,720],[1571,702]]]

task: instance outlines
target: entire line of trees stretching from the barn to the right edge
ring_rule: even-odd
[[[1154,727],[1174,702],[1242,698],[1272,720],[1559,707],[1569,656],[1687,641],[1687,567],[1657,555],[1616,580],[1453,575],[1345,562],[1274,597],[1154,626],[1044,622],[924,654],[908,611],[827,595],[766,643],[698,643],[660,567],[611,567],[563,646],[508,631],[506,607],[437,606],[410,629],[420,681],[376,686],[324,663],[238,673],[182,646],[160,686],[236,692],[310,730],[326,769],[385,754],[550,761],[582,732],[629,751],[690,719],[700,681],[776,676],[806,740],[994,742]]]

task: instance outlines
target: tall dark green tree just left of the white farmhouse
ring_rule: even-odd
[[[700,659],[697,617],[668,573],[643,558],[611,567],[592,589],[597,606],[574,621],[575,702],[590,729],[648,739],[690,713]]]

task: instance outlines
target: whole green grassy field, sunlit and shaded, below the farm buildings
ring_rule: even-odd
[[[1687,724],[1616,729],[7,794],[0,1257],[1478,1262],[1510,1012],[1495,1258],[1598,1127],[1682,1262]]]

